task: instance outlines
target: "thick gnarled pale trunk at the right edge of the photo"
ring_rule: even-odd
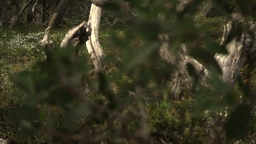
[[[221,45],[225,46],[228,55],[216,54],[215,59],[222,70],[221,79],[234,85],[240,70],[251,57],[255,56],[255,42],[253,36],[248,31],[243,30],[240,35],[236,35],[230,42],[227,39],[233,30],[232,25],[236,22],[229,22],[224,27]],[[255,33],[255,25],[251,26],[251,31]],[[227,44],[226,44],[227,43]]]

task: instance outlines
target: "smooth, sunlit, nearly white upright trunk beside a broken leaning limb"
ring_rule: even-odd
[[[91,4],[91,10],[89,14],[88,24],[91,27],[91,35],[89,40],[86,42],[87,51],[91,55],[91,59],[94,63],[95,70],[100,70],[103,67],[104,53],[99,42],[99,27],[100,27],[100,17],[102,8]]]

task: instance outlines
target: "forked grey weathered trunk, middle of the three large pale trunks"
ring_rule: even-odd
[[[183,89],[190,89],[193,84],[193,78],[188,72],[188,65],[193,66],[198,81],[202,85],[207,85],[207,80],[210,77],[210,74],[199,61],[188,55],[185,44],[182,44],[180,51],[175,54],[169,51],[168,35],[164,35],[164,37],[164,39],[160,39],[162,40],[162,44],[160,46],[159,55],[163,60],[176,67],[171,93],[173,99],[181,100],[181,91]]]

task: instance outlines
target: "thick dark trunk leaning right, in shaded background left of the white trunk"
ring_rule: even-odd
[[[68,8],[69,3],[70,3],[70,0],[59,1],[59,4],[58,4],[57,8],[55,9],[55,12],[53,13],[53,16],[51,17],[51,20],[48,23],[48,26],[57,27],[59,25],[63,15],[65,14],[65,12]]]

